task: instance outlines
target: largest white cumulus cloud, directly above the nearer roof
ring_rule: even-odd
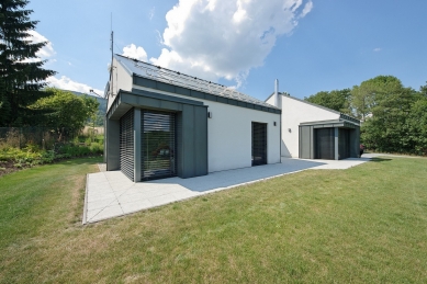
[[[312,9],[312,0],[180,0],[166,14],[165,48],[150,61],[239,87]]]

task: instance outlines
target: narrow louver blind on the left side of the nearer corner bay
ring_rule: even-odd
[[[120,118],[120,169],[134,181],[134,109]]]

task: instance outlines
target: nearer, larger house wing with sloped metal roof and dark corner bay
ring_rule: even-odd
[[[281,110],[224,86],[114,55],[105,98],[106,170],[135,182],[281,160]]]

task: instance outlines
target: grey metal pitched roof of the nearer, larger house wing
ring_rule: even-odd
[[[132,59],[128,57],[125,57],[123,55],[114,55],[114,58],[121,63],[121,65],[127,69],[128,72],[135,76],[148,78],[156,81],[161,81],[188,89],[192,89],[195,91],[201,91],[205,93],[210,93],[217,96],[224,96],[234,99],[241,102],[249,102],[252,104],[267,106],[270,109],[280,110],[271,104],[268,104],[266,102],[262,102],[258,99],[255,99],[252,96],[249,96],[247,94],[240,93],[232,88],[214,83],[211,81],[206,81],[196,77],[192,77],[189,75],[184,75],[178,71],[172,71],[159,66],[155,66],[151,64],[147,64],[144,61],[139,61],[136,59]]]

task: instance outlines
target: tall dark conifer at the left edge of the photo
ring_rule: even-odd
[[[32,125],[36,113],[26,106],[48,95],[42,89],[46,78],[56,73],[43,69],[46,60],[36,56],[47,42],[30,39],[29,32],[38,21],[31,21],[27,3],[0,0],[0,126]]]

